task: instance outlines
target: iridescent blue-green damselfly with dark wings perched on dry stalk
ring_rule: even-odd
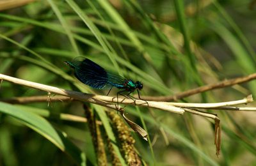
[[[111,91],[112,87],[121,89],[121,91],[118,91],[118,93],[116,94],[117,105],[118,94],[134,100],[134,97],[132,97],[130,94],[136,90],[140,98],[139,90],[143,88],[143,84],[140,81],[134,82],[131,79],[125,79],[120,75],[108,72],[107,70],[99,66],[99,64],[94,63],[87,58],[83,59],[82,61],[78,61],[75,58],[74,61],[65,61],[65,63],[74,69],[75,76],[78,80],[90,87],[96,89],[109,88],[108,94]],[[145,102],[147,103],[147,101]]]

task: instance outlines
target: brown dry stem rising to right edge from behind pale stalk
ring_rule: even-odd
[[[210,91],[212,89],[220,89],[223,87],[228,87],[228,86],[234,86],[236,84],[241,84],[244,82],[248,82],[250,80],[256,79],[256,73],[253,73],[251,75],[248,75],[246,77],[237,77],[236,79],[229,79],[229,80],[223,80],[221,82],[217,82],[216,84],[210,84],[206,86],[200,86],[196,87],[195,89],[190,89],[188,91],[184,91],[182,93],[175,94],[174,96],[141,96],[144,100],[154,100],[154,101],[176,101],[179,100],[180,98],[185,98],[188,96],[191,96],[193,94],[198,94],[202,93],[205,91]]]

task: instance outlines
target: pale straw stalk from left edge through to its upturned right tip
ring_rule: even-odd
[[[74,98],[76,100],[81,100],[83,102],[91,102],[98,105],[102,105],[104,107],[108,107],[111,109],[116,109],[116,105],[113,104],[117,102],[116,98],[109,97],[109,96],[100,96],[95,94],[86,94],[86,93],[80,93],[76,91],[68,91],[65,89],[60,89],[58,87],[52,87],[52,86],[46,86],[44,84],[38,84],[36,82],[30,82],[22,79],[17,79],[14,77],[10,77],[7,75],[0,74],[0,79],[2,80],[8,80],[9,82],[13,82],[15,84],[20,84],[22,86],[28,86],[33,87],[35,89],[40,89],[42,91],[47,91],[50,93],[60,94],[63,96],[68,96],[70,98]],[[230,105],[237,105],[237,104],[244,104],[252,102],[252,95],[247,96],[243,100],[237,100],[232,102],[222,102],[222,103],[175,103],[175,102],[153,102],[148,101],[147,103],[143,100],[131,100],[127,98],[118,98],[118,102],[126,105],[139,105],[143,107],[152,107],[155,109],[161,109],[161,110],[168,110],[170,112],[174,112],[177,114],[183,114],[184,109],[182,108],[201,108],[201,109],[213,109],[213,108],[219,108],[219,107],[227,107]],[[119,110],[120,108],[118,108]]]

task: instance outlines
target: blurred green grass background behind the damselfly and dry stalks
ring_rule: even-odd
[[[164,96],[256,72],[254,0],[9,2],[14,3],[0,2],[0,73],[12,77],[106,94],[81,84],[63,63],[84,56],[143,82],[141,95]],[[255,81],[185,100],[225,102],[248,94],[255,96]],[[38,95],[47,92],[1,84],[1,99]],[[105,108],[90,107],[97,110],[97,120],[108,122]],[[132,121],[147,126],[149,143],[131,134],[148,165],[256,165],[255,112],[207,110],[221,119],[218,158],[211,119],[145,107],[125,110]],[[1,103],[0,165],[95,165],[88,124],[63,114],[83,117],[83,103]]]

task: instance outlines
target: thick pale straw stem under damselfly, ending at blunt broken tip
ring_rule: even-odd
[[[14,84],[19,84],[22,86],[28,86],[32,87],[34,89],[40,89],[42,91],[46,91],[48,93],[55,93],[55,94],[60,94],[63,96],[68,96],[70,98],[74,98],[76,100],[81,100],[83,102],[90,102],[90,103],[95,103],[97,105],[102,105],[104,107],[108,107],[111,109],[118,109],[116,108],[116,105],[113,104],[113,102],[117,102],[116,98],[109,97],[109,96],[100,96],[100,95],[95,95],[95,94],[87,94],[87,93],[81,93],[81,92],[76,92],[76,91],[68,91],[66,89],[60,89],[58,87],[53,87],[53,86],[47,86],[44,84],[38,84],[36,82],[31,82],[27,80],[22,80],[22,79],[17,79],[15,77],[10,77],[8,75],[3,75],[0,74],[0,79],[2,80],[7,80],[9,82],[13,82]],[[167,110],[170,112],[174,112],[177,114],[183,114],[184,110],[172,105],[167,105],[166,103],[160,103],[160,102],[145,102],[143,100],[131,100],[131,99],[124,99],[124,98],[118,98],[118,103],[123,103],[123,104],[131,104],[131,105],[141,105],[143,107],[152,107],[154,109],[161,109],[161,110]]]

